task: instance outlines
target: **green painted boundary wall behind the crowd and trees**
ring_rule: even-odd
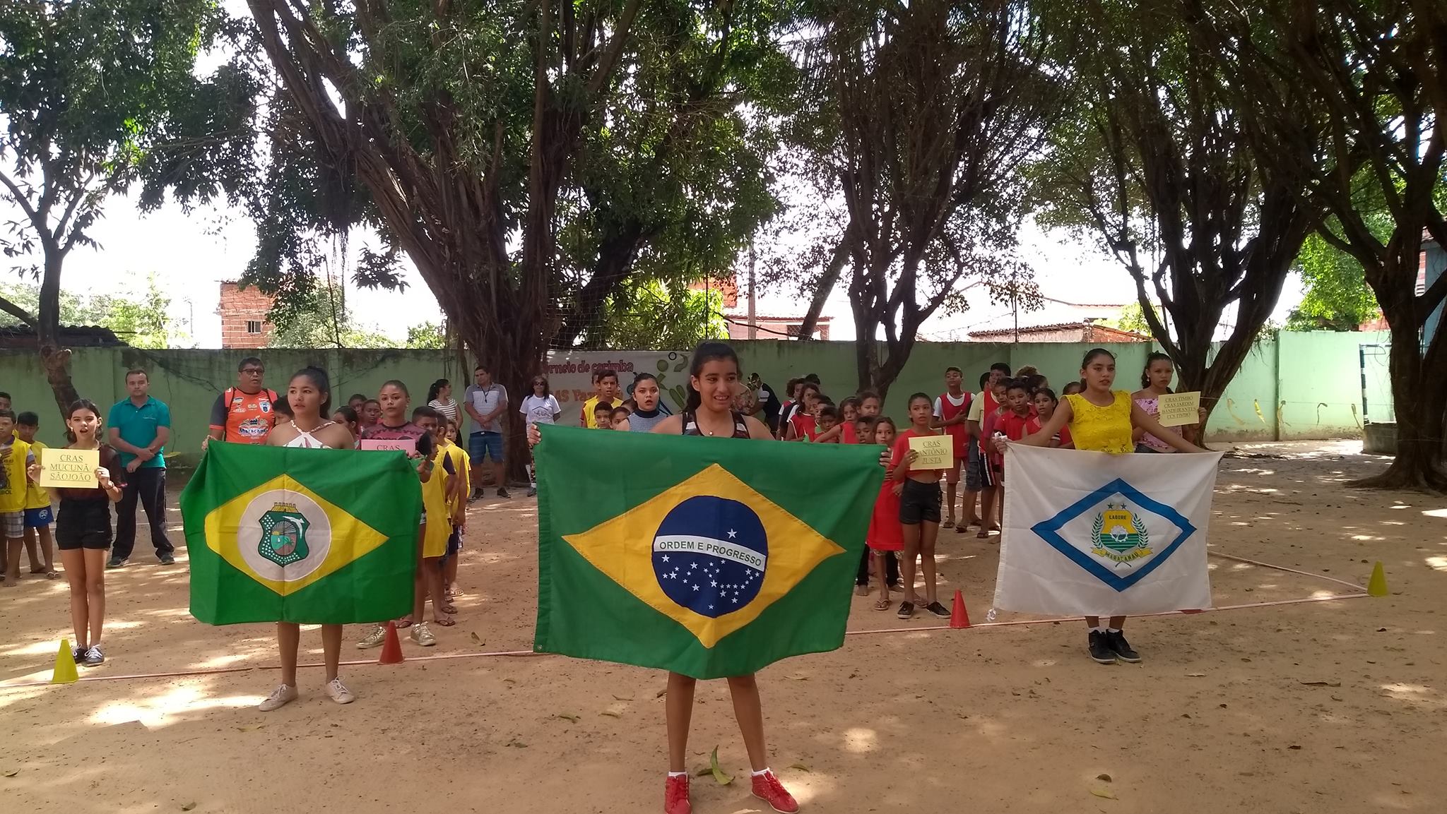
[[[1360,344],[1383,343],[1383,334],[1367,333],[1282,333],[1252,350],[1242,372],[1227,387],[1221,405],[1211,414],[1211,438],[1292,440],[1346,438],[1362,434]],[[745,372],[757,372],[765,382],[783,387],[793,376],[818,373],[826,393],[838,400],[854,392],[854,343],[735,343]],[[1117,382],[1134,389],[1139,370],[1152,350],[1147,343],[1107,346],[1117,354]],[[1074,379],[1087,350],[1084,344],[988,344],[919,343],[899,380],[890,387],[884,412],[900,418],[910,393],[932,396],[943,389],[943,370],[954,364],[965,372],[967,386],[994,361],[1011,369],[1035,364],[1056,390]],[[1370,351],[1369,351],[1370,354]],[[211,403],[217,393],[236,382],[236,366],[247,351],[77,348],[71,374],[84,398],[103,409],[122,398],[124,372],[143,367],[150,372],[150,393],[171,405],[174,441],[168,457],[185,464],[195,460],[205,437]],[[291,372],[318,364],[331,373],[333,400],[353,392],[375,395],[382,382],[401,379],[412,390],[414,403],[425,396],[427,386],[438,377],[454,385],[470,380],[470,372],[457,369],[456,356],[431,350],[263,350],[266,385],[281,389]],[[1391,390],[1383,361],[1367,360],[1367,415],[1376,421],[1391,416]],[[1379,370],[1380,367],[1380,370]],[[0,390],[13,396],[16,411],[32,409],[41,415],[41,440],[62,442],[64,427],[54,408],[54,398],[33,351],[0,350]],[[1257,406],[1260,415],[1257,415]]]

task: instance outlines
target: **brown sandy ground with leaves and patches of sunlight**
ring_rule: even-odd
[[[1139,665],[1101,667],[1078,623],[849,636],[760,677],[771,765],[812,811],[1447,811],[1447,500],[1356,492],[1383,463],[1359,444],[1253,445],[1227,458],[1213,549],[1392,596],[1140,619]],[[470,513],[459,625],[402,665],[344,667],[347,707],[304,669],[276,684],[272,629],[187,614],[187,570],[146,544],[107,574],[107,664],[88,677],[203,677],[0,688],[7,811],[657,811],[666,747],[658,672],[538,658],[434,658],[530,648],[534,500]],[[179,518],[172,515],[178,525]],[[996,552],[942,532],[942,593],[983,622]],[[179,529],[175,532],[179,539]],[[184,554],[184,552],[182,552]],[[1217,606],[1341,586],[1213,558]],[[0,680],[49,678],[69,635],[64,581],[0,596]],[[855,597],[849,627],[900,623]],[[376,658],[350,645],[343,658]],[[304,661],[320,635],[302,635]],[[569,716],[569,717],[563,717]],[[703,684],[690,762],[719,746],[732,785],[693,782],[700,814],[758,811],[726,685]],[[1100,779],[1108,775],[1110,781]],[[1100,797],[1095,792],[1110,795]]]

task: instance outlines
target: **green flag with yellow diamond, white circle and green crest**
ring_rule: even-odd
[[[214,442],[181,492],[191,616],[346,625],[411,612],[417,470],[402,453]]]

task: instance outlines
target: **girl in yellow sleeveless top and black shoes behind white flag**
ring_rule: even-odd
[[[1134,451],[1133,432],[1139,428],[1160,438],[1182,453],[1204,453],[1205,450],[1160,427],[1160,422],[1132,400],[1126,390],[1111,390],[1116,383],[1116,356],[1106,348],[1091,348],[1081,361],[1081,382],[1085,390],[1065,396],[1055,415],[1033,435],[1019,441],[996,437],[996,448],[1004,453],[1009,444],[1049,447],[1051,438],[1069,427],[1077,450],[1124,454]],[[1100,664],[1140,661],[1140,655],[1126,642],[1121,630],[1124,616],[1111,616],[1110,626],[1101,627],[1098,616],[1087,616],[1090,627],[1090,656]]]

